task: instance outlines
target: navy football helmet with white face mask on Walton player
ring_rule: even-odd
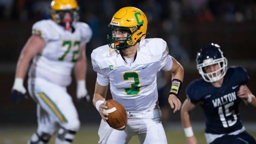
[[[228,60],[223,56],[223,52],[220,50],[218,44],[211,43],[200,49],[197,53],[196,62],[199,74],[201,74],[203,79],[207,82],[218,81],[226,74]],[[220,69],[211,73],[205,73],[203,68],[212,64],[219,64]],[[221,71],[221,74],[217,75],[219,71]],[[215,76],[213,74],[215,74]]]

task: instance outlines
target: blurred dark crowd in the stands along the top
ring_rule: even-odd
[[[20,22],[50,18],[51,0],[1,0],[0,18]],[[78,0],[81,20],[110,21],[116,9],[137,6],[149,22],[178,20],[187,22],[256,21],[254,0]],[[103,19],[101,19],[103,18]]]

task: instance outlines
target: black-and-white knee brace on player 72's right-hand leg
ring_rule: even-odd
[[[76,131],[60,128],[58,131],[58,137],[56,138],[55,144],[70,144],[75,138]]]

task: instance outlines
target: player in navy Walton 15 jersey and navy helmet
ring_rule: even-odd
[[[190,124],[190,111],[201,105],[206,117],[207,144],[256,144],[239,119],[241,100],[256,106],[256,98],[246,86],[249,76],[240,66],[227,68],[227,59],[217,44],[204,46],[197,53],[197,69],[203,78],[186,87],[187,99],[181,108],[181,120],[187,144],[197,144]]]

